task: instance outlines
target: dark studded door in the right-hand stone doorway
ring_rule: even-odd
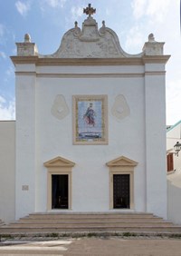
[[[113,174],[113,208],[129,209],[129,174]]]

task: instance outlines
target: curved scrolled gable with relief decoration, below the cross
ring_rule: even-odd
[[[51,56],[59,58],[122,58],[129,57],[129,54],[122,50],[118,35],[106,27],[104,21],[98,29],[96,21],[89,16],[83,22],[82,29],[75,23],[75,27],[63,35],[59,49]]]

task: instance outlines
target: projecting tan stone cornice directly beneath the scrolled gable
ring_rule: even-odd
[[[166,64],[170,55],[154,55],[132,58],[42,58],[39,56],[11,56],[15,64],[35,64],[37,66],[99,66],[99,65],[144,65]]]

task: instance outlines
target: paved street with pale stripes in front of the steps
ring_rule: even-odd
[[[39,256],[181,256],[181,239],[78,238],[56,241],[1,242],[0,255]]]

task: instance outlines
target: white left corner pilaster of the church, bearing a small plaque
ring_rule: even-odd
[[[31,70],[33,65],[30,65]],[[35,209],[35,77],[16,75],[15,218]],[[21,212],[21,214],[19,213]]]

